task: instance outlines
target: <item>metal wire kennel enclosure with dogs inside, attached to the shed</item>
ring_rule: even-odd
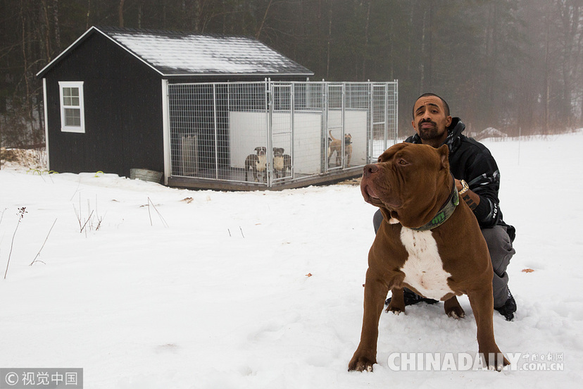
[[[396,141],[397,81],[166,87],[170,185],[310,185],[358,175]]]

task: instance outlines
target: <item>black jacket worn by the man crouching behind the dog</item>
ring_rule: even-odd
[[[480,228],[491,228],[502,221],[498,191],[500,189],[500,172],[494,157],[484,144],[463,135],[465,124],[460,118],[453,118],[448,128],[445,144],[449,147],[449,170],[453,177],[465,180],[470,190],[479,195],[479,204],[474,209]],[[421,143],[418,134],[408,137],[405,142]],[[513,228],[508,226],[508,235],[513,239]]]

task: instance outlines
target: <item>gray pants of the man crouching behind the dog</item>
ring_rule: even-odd
[[[372,225],[375,227],[375,234],[380,228],[382,214],[380,209],[372,216]],[[492,289],[494,290],[494,307],[502,307],[508,300],[508,273],[506,268],[515,251],[510,242],[510,237],[503,226],[493,228],[482,228],[482,235],[488,245],[492,268],[494,268],[494,278],[492,279]]]

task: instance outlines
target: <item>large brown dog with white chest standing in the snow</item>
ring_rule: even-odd
[[[349,370],[372,371],[384,300],[391,290],[387,311],[405,311],[403,288],[444,301],[454,318],[464,316],[456,295],[468,295],[479,353],[495,369],[508,364],[494,340],[488,247],[469,206],[458,199],[448,155],[445,145],[401,143],[364,167],[363,197],[380,207],[384,221],[368,254],[361,342]]]

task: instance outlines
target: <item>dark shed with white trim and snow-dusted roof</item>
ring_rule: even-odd
[[[168,85],[302,81],[313,75],[257,39],[91,27],[38,74],[49,169],[170,172]],[[166,121],[166,122],[165,122]],[[228,134],[219,137],[228,142]],[[205,147],[222,147],[215,139]]]

